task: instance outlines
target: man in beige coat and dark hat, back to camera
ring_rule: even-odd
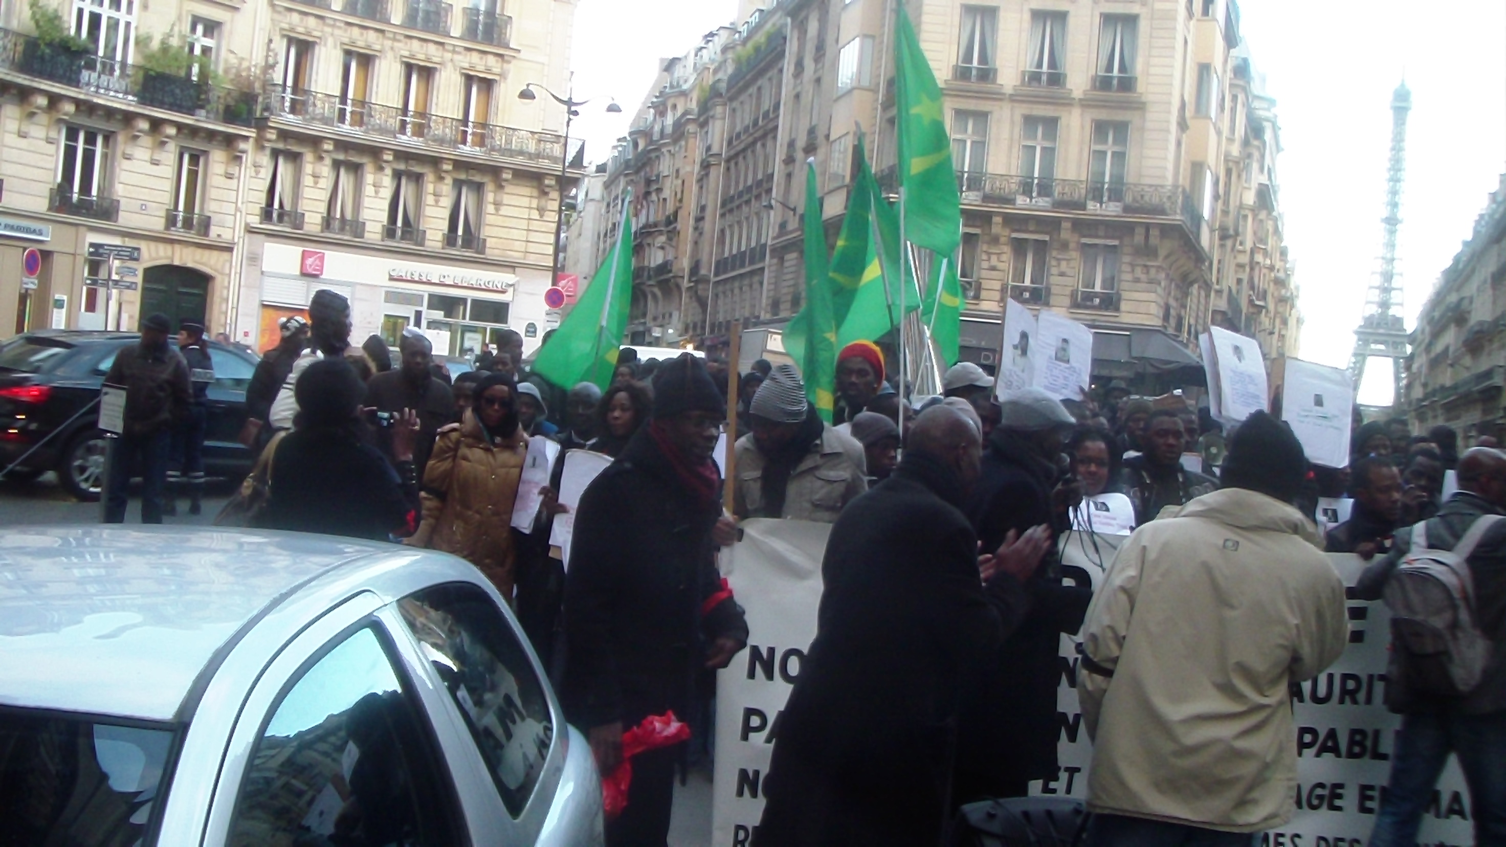
[[[1083,622],[1087,847],[1248,847],[1292,817],[1288,686],[1349,639],[1343,582],[1292,505],[1303,448],[1264,411],[1223,488],[1136,531]]]

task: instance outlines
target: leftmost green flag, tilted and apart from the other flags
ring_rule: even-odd
[[[605,389],[617,368],[633,300],[633,217],[622,211],[617,243],[590,277],[575,307],[539,348],[533,372],[563,389],[595,383]]]

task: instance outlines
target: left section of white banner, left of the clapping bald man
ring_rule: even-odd
[[[717,671],[717,761],[711,844],[747,845],[764,817],[774,720],[816,638],[828,523],[753,518],[732,546],[727,583],[748,622],[748,647]]]

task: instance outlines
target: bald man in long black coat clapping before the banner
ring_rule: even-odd
[[[964,689],[1024,616],[1041,532],[979,558],[962,514],[979,430],[937,407],[889,479],[852,500],[821,564],[816,639],[779,717],[758,845],[937,844]]]

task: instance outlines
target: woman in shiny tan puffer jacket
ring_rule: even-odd
[[[461,424],[440,430],[423,472],[423,520],[408,544],[465,559],[512,603],[512,502],[529,437],[518,427],[511,375],[488,374],[474,398]]]

